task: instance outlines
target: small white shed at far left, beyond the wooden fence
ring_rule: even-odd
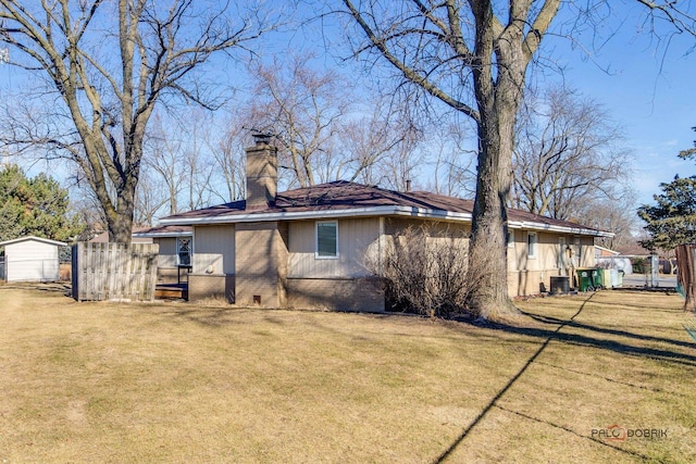
[[[59,247],[62,241],[22,237],[0,242],[4,247],[7,281],[49,281],[59,279]]]

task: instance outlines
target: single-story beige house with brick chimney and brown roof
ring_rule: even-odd
[[[165,226],[191,226],[189,300],[225,297],[239,305],[384,311],[384,294],[362,265],[411,225],[432,222],[469,235],[473,202],[424,191],[334,181],[277,190],[276,150],[247,149],[247,199],[175,214]],[[594,265],[595,237],[609,233],[509,211],[511,296],[550,288],[551,276]],[[463,239],[468,240],[468,239]],[[571,286],[572,286],[571,280]]]

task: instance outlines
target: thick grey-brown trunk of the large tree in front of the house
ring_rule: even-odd
[[[505,39],[496,36],[489,3],[474,7],[474,16],[478,166],[469,264],[472,272],[481,274],[472,310],[486,319],[504,319],[519,313],[508,296],[507,202],[512,184],[514,123],[529,58],[523,52],[522,28],[508,27],[502,33]],[[484,61],[488,57],[496,58],[497,75]]]

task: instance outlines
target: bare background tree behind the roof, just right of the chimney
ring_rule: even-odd
[[[274,136],[281,183],[295,188],[346,179],[403,189],[419,164],[421,133],[412,118],[402,105],[313,60],[276,57],[252,68],[246,127]]]

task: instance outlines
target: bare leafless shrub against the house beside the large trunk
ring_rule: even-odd
[[[465,312],[483,273],[469,268],[463,230],[442,224],[410,226],[368,252],[365,267],[384,284],[387,309],[447,317]]]

